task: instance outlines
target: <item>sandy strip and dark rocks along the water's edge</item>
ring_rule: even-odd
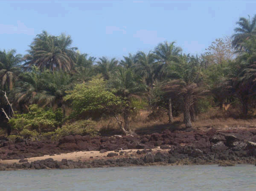
[[[256,158],[241,157],[237,160],[221,160],[218,159],[217,156],[214,156],[212,160],[207,160],[207,157],[201,155],[182,159],[181,156],[174,157],[172,150],[160,148],[148,150],[128,149],[119,152],[106,151],[104,153],[100,153],[99,151],[79,151],[66,154],[58,154],[54,156],[45,155],[43,157],[32,157],[22,160],[1,160],[0,171],[166,165],[234,166],[237,164],[256,165]]]

